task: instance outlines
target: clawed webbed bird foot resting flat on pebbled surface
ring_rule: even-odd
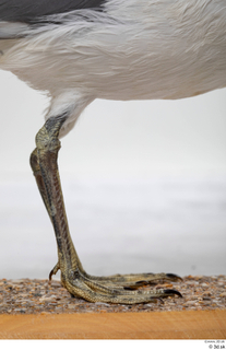
[[[51,270],[49,278],[59,269],[59,264]],[[143,277],[143,280],[140,278]],[[147,278],[148,277],[148,278]],[[144,279],[145,278],[145,279]],[[114,304],[152,303],[167,296],[182,295],[174,289],[141,290],[142,285],[153,281],[176,281],[180,277],[173,273],[143,273],[143,275],[115,275],[110,277],[92,277],[86,272],[61,272],[61,282],[71,295],[82,298],[88,302],[103,302]]]

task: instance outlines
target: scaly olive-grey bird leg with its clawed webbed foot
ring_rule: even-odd
[[[140,285],[155,283],[159,280],[176,281],[180,279],[173,273],[115,275],[94,277],[85,272],[70,236],[58,172],[58,152],[60,149],[59,131],[66,116],[49,118],[36,136],[36,149],[31,155],[31,166],[53,225],[58,262],[49,278],[61,271],[61,282],[72,294],[90,302],[135,304],[155,302],[168,295],[181,294],[175,290],[130,290]]]

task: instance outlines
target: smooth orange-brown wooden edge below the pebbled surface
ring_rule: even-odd
[[[0,339],[225,339],[226,310],[0,315]]]

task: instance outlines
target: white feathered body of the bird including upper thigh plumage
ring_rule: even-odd
[[[225,0],[109,0],[105,12],[0,42],[0,68],[48,92],[47,117],[67,106],[67,133],[94,98],[182,98],[226,86]],[[0,26],[1,31],[1,26]],[[8,47],[7,47],[8,45]]]

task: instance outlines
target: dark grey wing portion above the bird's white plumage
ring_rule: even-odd
[[[38,18],[82,9],[100,10],[107,0],[0,0],[0,22],[35,23]]]

